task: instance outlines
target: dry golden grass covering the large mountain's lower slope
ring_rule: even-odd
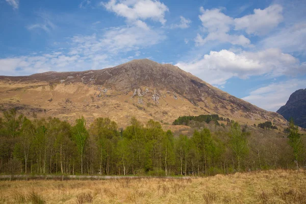
[[[158,90],[160,93],[159,105],[149,107],[147,106],[148,103],[155,103],[151,98],[152,93],[154,93],[153,88],[149,88],[150,92],[141,97],[143,100],[142,105],[138,104],[138,96],[132,97],[134,90],[126,94],[125,91],[120,92],[113,88],[105,94],[103,93],[101,97],[96,97],[101,93],[100,89],[104,88],[109,87],[83,83],[49,85],[47,82],[0,80],[0,104],[4,105],[5,109],[24,105],[25,107],[18,112],[30,119],[33,119],[32,109],[36,108],[41,110],[41,112],[36,111],[37,118],[55,116],[61,120],[74,123],[75,119],[83,115],[88,124],[90,124],[96,117],[109,117],[121,127],[130,125],[131,116],[135,116],[144,124],[149,119],[172,124],[179,116],[200,114],[219,114],[220,117],[230,117],[241,124],[248,123],[249,125],[265,122],[266,120],[273,121],[274,119],[279,119],[282,123],[286,122],[283,118],[275,118],[269,113],[264,113],[267,119],[263,118],[261,114],[251,114],[250,117],[246,116],[243,111],[231,113],[229,109],[231,109],[230,105],[232,103],[227,101],[225,104],[229,104],[224,109],[220,106],[223,103],[217,104],[210,97],[206,98],[207,103],[198,102],[198,106],[194,106],[183,95],[176,93],[178,99],[174,99],[173,93],[167,92],[166,89]],[[145,90],[148,87],[140,88]],[[214,87],[211,88],[215,89]],[[51,98],[52,100],[50,101]],[[71,103],[66,103],[66,99],[69,99]],[[218,106],[217,112],[214,110],[215,106]],[[237,107],[237,109],[240,109],[240,107]],[[175,127],[173,128],[175,129]]]

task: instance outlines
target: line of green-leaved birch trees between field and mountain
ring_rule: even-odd
[[[288,138],[241,131],[195,130],[174,137],[160,122],[135,117],[125,129],[109,118],[71,125],[49,117],[30,120],[12,109],[0,117],[0,173],[213,175],[306,164],[304,140],[290,123]],[[299,164],[299,165],[298,165]]]

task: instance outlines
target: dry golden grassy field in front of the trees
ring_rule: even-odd
[[[306,203],[306,171],[191,179],[0,181],[0,203]]]

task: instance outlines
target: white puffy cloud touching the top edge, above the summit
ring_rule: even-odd
[[[101,2],[100,4],[108,11],[126,18],[128,22],[151,19],[165,24],[165,12],[169,11],[168,7],[163,3],[152,0],[118,2],[117,0],[110,0],[108,3]]]

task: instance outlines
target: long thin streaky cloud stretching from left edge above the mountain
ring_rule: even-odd
[[[0,59],[3,75],[29,75],[37,72],[103,69],[128,61],[119,54],[133,52],[157,44],[165,39],[159,30],[144,30],[139,27],[118,27],[105,30],[103,34],[74,36],[67,42],[70,47],[61,52]],[[18,71],[16,71],[18,70]]]

